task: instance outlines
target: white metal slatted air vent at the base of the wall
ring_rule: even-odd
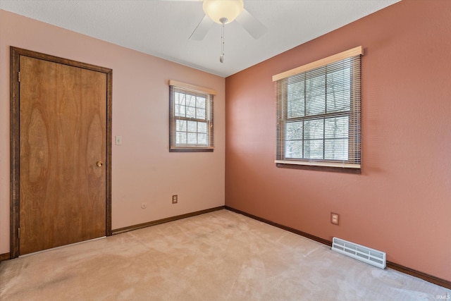
[[[378,250],[364,247],[363,245],[357,245],[357,243],[342,240],[340,238],[333,238],[332,250],[345,254],[349,257],[359,259],[367,264],[372,264],[378,268],[385,269],[386,266],[386,254]]]

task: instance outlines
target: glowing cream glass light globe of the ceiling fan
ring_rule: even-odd
[[[242,13],[245,4],[242,0],[204,0],[203,8],[211,20],[218,24],[227,24]],[[224,23],[224,20],[227,22]]]

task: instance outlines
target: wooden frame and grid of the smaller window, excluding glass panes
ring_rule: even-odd
[[[185,82],[178,82],[176,80],[169,80],[169,152],[213,152],[214,151],[214,95],[215,90],[200,87],[197,85],[190,85]],[[193,97],[205,97],[205,118],[191,118],[187,116],[176,116],[175,113],[175,93],[183,93]],[[194,107],[198,109],[197,106]],[[206,145],[199,144],[183,144],[177,145],[177,121],[194,121],[206,123]],[[189,133],[188,130],[186,130]],[[196,130],[199,135],[199,131]]]

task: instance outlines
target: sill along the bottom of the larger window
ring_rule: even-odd
[[[361,173],[360,164],[283,160],[276,160],[275,162],[276,166],[280,168],[295,168],[309,171],[334,171],[340,173]]]

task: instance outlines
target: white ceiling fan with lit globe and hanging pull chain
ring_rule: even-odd
[[[265,25],[254,18],[244,7],[243,0],[166,0],[166,1],[203,1],[205,16],[194,29],[189,39],[194,41],[202,41],[209,32],[214,22],[221,24],[221,50],[222,54],[219,61],[224,61],[224,25],[236,20],[249,35],[254,39],[259,39],[268,31]]]

